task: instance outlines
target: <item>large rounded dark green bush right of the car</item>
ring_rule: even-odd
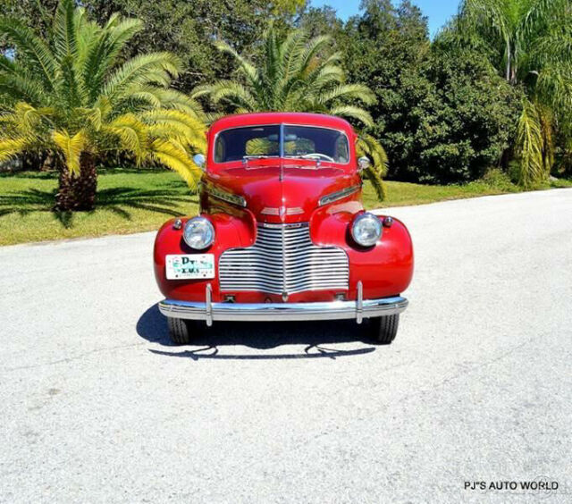
[[[384,139],[400,180],[474,181],[501,164],[514,138],[519,94],[473,52],[433,46],[420,70],[403,76],[400,98]]]

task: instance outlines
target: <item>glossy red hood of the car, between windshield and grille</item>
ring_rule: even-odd
[[[258,221],[307,222],[321,197],[360,183],[356,172],[322,166],[234,167],[209,173],[207,184],[240,195]]]

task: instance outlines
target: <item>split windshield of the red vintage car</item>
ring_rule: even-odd
[[[267,125],[223,130],[214,143],[214,162],[265,157],[349,163],[348,137],[342,131],[311,126]]]

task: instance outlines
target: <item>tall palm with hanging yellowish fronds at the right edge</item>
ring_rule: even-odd
[[[518,179],[550,174],[556,132],[572,139],[572,4],[569,0],[464,0],[454,31],[479,46],[513,86],[524,89],[517,124]]]

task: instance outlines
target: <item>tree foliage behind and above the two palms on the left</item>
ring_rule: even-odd
[[[48,35],[58,0],[3,0],[0,13],[18,17]],[[305,0],[82,0],[90,17],[103,23],[113,13],[136,18],[143,29],[133,38],[126,55],[168,51],[182,68],[179,87],[228,76],[229,60],[211,44],[220,38],[238,51],[252,55],[268,22],[286,29]],[[39,5],[39,8],[38,8]]]

